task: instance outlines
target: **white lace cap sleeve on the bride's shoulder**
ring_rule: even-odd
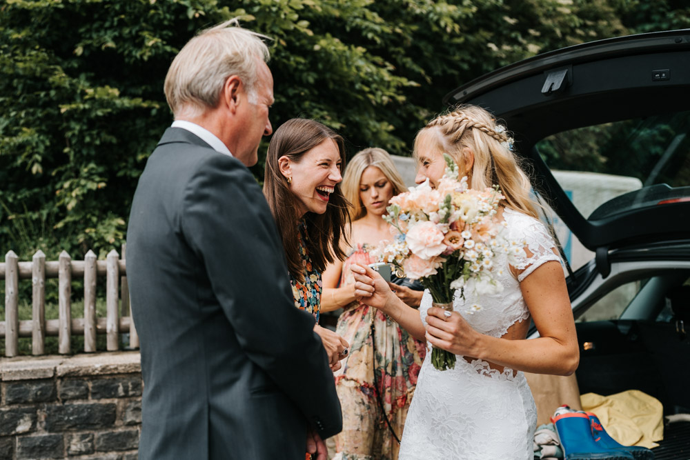
[[[522,270],[517,281],[522,282],[531,272],[549,261],[561,262],[558,249],[543,223],[521,212],[510,211],[506,215],[511,239],[524,241],[524,256],[517,257],[515,268]]]

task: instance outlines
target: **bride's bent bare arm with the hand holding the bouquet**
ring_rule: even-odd
[[[476,357],[515,370],[570,375],[580,362],[578,337],[560,263],[549,261],[520,283],[540,337],[509,340],[481,334],[460,314],[444,320],[444,310],[430,308],[428,341],[455,354]],[[523,336],[524,337],[524,336]]]

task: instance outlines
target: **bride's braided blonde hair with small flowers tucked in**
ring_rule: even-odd
[[[415,157],[429,150],[453,157],[470,176],[470,187],[484,190],[497,184],[509,208],[538,218],[540,206],[531,197],[531,183],[513,154],[513,139],[506,128],[495,122],[489,112],[478,106],[457,106],[452,112],[429,121],[415,138]],[[471,152],[471,153],[470,153]],[[473,155],[471,170],[467,156]]]

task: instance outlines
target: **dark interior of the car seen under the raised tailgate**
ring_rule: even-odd
[[[635,389],[661,401],[664,414],[690,413],[688,382],[679,378],[690,366],[690,270],[629,281],[589,308],[579,307],[581,393]]]

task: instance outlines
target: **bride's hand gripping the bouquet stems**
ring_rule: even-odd
[[[426,323],[426,340],[431,345],[453,354],[477,357],[477,341],[482,334],[471,328],[460,313],[431,307],[426,311]]]

